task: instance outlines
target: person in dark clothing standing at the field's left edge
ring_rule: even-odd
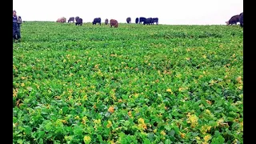
[[[20,42],[21,30],[20,25],[22,24],[21,18],[16,14],[16,10],[13,10],[13,38],[15,41]]]

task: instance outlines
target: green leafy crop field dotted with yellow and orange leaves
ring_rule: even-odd
[[[14,143],[243,143],[243,29],[24,22]]]

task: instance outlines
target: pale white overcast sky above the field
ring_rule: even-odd
[[[243,0],[13,0],[13,9],[23,21],[56,21],[79,16],[83,22],[94,18],[159,18],[159,24],[225,25],[243,12]]]

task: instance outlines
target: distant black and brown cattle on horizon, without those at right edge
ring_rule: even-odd
[[[66,22],[66,18],[62,17],[62,18],[58,18],[58,20],[56,22],[60,22],[60,23],[64,23]],[[82,18],[79,17],[70,17],[69,20],[67,22],[74,22],[76,26],[82,26]],[[126,22],[127,23],[131,23],[131,18],[126,18]],[[158,18],[144,18],[144,17],[140,17],[140,18],[135,18],[135,23],[139,23],[143,25],[154,25],[154,23],[156,23],[158,25]],[[97,23],[99,25],[102,25],[102,18],[94,18],[94,21],[92,22],[93,25],[96,25]],[[106,18],[105,19],[105,25],[109,24],[109,20]],[[118,21],[115,19],[110,19],[110,27],[118,27]]]

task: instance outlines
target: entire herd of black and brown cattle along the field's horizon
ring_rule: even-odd
[[[75,18],[70,17],[70,19],[67,22],[74,22],[74,21],[76,26],[82,26],[82,18],[79,18],[79,17],[75,17]],[[66,18],[65,17],[58,18],[56,22],[64,23],[66,22]],[[130,17],[126,18],[126,22],[130,23],[131,18]],[[135,18],[135,23],[142,24],[142,22],[143,22],[143,25],[154,25],[154,23],[158,25],[158,18],[144,18],[144,17]],[[243,12],[241,14],[237,14],[231,17],[230,20],[226,22],[226,25],[236,25],[238,22],[240,23],[240,26],[243,27]],[[98,23],[101,26],[102,19],[94,18],[94,21],[92,23],[93,25],[96,25]],[[106,18],[105,25],[108,25],[108,24],[109,24],[109,20]],[[115,19],[110,19],[110,27],[112,26],[118,27],[118,21]]]

